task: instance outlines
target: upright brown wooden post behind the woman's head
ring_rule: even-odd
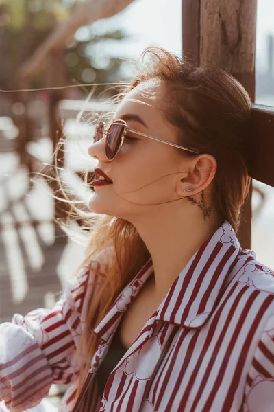
[[[183,50],[199,65],[225,67],[255,99],[257,0],[182,0]],[[251,194],[239,231],[251,247]]]

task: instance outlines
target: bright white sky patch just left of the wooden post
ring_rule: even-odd
[[[171,6],[172,5],[172,6]],[[182,0],[136,0],[112,19],[92,23],[92,32],[122,29],[127,41],[93,46],[92,54],[108,54],[138,60],[145,47],[158,45],[182,53]],[[84,28],[77,34],[85,36]],[[106,52],[106,53],[105,53]]]

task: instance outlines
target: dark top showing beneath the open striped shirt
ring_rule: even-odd
[[[103,398],[103,391],[105,390],[105,383],[108,380],[108,376],[110,372],[116,367],[117,363],[123,358],[125,352],[127,352],[127,348],[123,345],[120,339],[120,332],[119,327],[116,329],[114,334],[112,344],[110,346],[110,350],[108,354],[106,354],[103,362],[99,366],[97,370],[97,382],[98,382],[98,389],[101,398]]]

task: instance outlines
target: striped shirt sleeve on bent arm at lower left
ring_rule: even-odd
[[[52,383],[77,378],[77,347],[88,301],[96,293],[94,264],[69,282],[52,310],[14,314],[11,323],[0,325],[0,398],[10,411],[34,407]]]

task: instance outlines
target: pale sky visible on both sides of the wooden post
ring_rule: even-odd
[[[136,0],[113,19],[93,23],[95,30],[123,29],[131,39],[110,47],[110,54],[138,58],[149,45],[182,52],[182,0]],[[266,71],[266,36],[274,34],[274,0],[258,0],[256,69]],[[99,52],[99,51],[98,51]]]

